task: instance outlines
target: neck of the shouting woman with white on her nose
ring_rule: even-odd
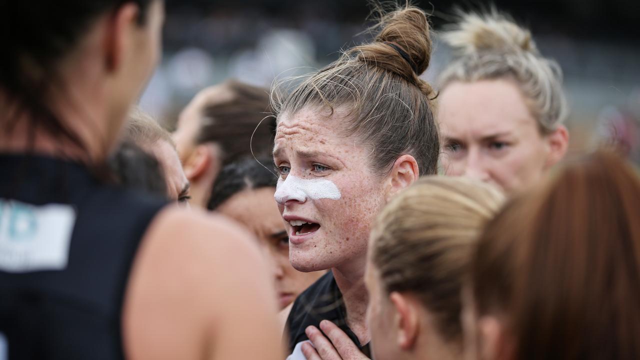
[[[347,313],[347,325],[353,331],[360,344],[369,343],[371,336],[365,322],[369,295],[364,284],[366,256],[349,261],[348,265],[332,269],[335,282],[342,293]]]

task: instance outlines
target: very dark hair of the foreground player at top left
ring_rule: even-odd
[[[127,3],[138,6],[138,22],[144,24],[152,0],[0,2],[1,131],[10,133],[18,120],[28,117],[31,125],[86,148],[81,136],[59,119],[49,97],[70,92],[59,65],[94,22]]]

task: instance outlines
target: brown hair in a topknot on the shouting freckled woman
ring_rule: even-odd
[[[435,174],[440,149],[435,95],[419,78],[431,59],[429,22],[413,6],[381,14],[372,42],[344,51],[274,107],[289,116],[305,107],[340,110],[346,134],[371,147],[376,172],[388,172],[399,156],[410,154],[420,174]]]

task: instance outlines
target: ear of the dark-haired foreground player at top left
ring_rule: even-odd
[[[117,72],[122,66],[126,51],[132,45],[127,36],[138,24],[138,5],[127,2],[116,8],[108,17],[104,33],[104,66],[107,72]]]

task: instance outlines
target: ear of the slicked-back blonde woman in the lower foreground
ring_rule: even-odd
[[[389,294],[389,300],[396,309],[398,346],[403,350],[410,350],[418,338],[419,313],[417,304],[397,291]]]

